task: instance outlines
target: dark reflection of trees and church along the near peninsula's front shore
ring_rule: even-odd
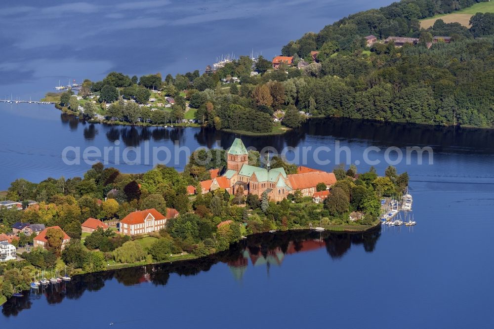
[[[2,314],[16,316],[20,311],[31,308],[33,302],[43,296],[49,304],[60,303],[64,298],[78,299],[84,291],[100,290],[106,281],[112,279],[124,286],[144,282],[165,286],[172,273],[180,276],[197,275],[219,262],[228,264],[235,278],[241,279],[249,260],[253,266],[281,265],[286,255],[323,247],[326,247],[331,259],[336,259],[343,257],[352,245],[363,245],[367,252],[372,252],[380,234],[380,227],[365,233],[318,233],[303,230],[256,234],[232,245],[226,251],[199,259],[89,273],[75,276],[70,282],[40,287],[38,291],[25,291],[23,297],[10,298],[3,304]]]

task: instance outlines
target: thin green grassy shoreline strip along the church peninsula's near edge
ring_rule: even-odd
[[[380,221],[378,221],[374,225],[343,225],[343,224],[341,224],[341,225],[327,226],[327,227],[325,227],[325,231],[324,232],[357,234],[357,233],[369,232],[369,231],[377,228],[380,225],[381,225],[381,222]],[[356,228],[353,229],[353,230],[350,229],[353,226],[355,226]],[[290,232],[290,231],[311,231],[311,232],[317,232],[315,230],[310,230],[310,229],[305,229],[305,228],[294,228],[294,229],[288,229],[288,230],[276,230],[276,232],[274,232],[272,234],[276,234],[278,232]],[[248,239],[249,237],[252,237],[252,236],[255,236],[255,235],[267,234],[267,233],[270,233],[270,232],[269,231],[266,231],[266,232],[252,233],[252,234],[247,235],[246,238]],[[184,254],[184,255],[174,256],[174,257],[176,257],[176,259],[167,259],[167,260],[164,260],[164,261],[161,261],[161,262],[147,263],[146,261],[141,261],[141,262],[136,262],[136,263],[115,264],[115,265],[107,266],[107,268],[104,269],[104,270],[102,270],[102,271],[78,273],[78,274],[73,275],[72,277],[81,276],[81,275],[87,275],[87,274],[91,274],[91,273],[114,271],[114,270],[119,270],[119,269],[124,269],[124,268],[139,267],[139,266],[145,266],[145,265],[160,265],[160,264],[165,264],[165,263],[177,263],[177,262],[184,262],[184,261],[194,261],[194,260],[199,260],[199,259],[202,259],[202,258],[206,258],[206,257],[210,257],[210,256],[213,256],[213,255],[216,255],[216,254],[218,254],[220,252],[227,251],[228,249],[230,249],[230,247],[228,247],[225,250],[221,250],[221,251],[216,251],[216,252],[210,253],[210,254],[208,254],[206,256],[195,256],[193,254],[187,253],[187,254]],[[30,290],[22,290],[22,291],[30,291]],[[10,297],[10,298],[13,298],[13,297]],[[0,306],[3,305],[6,301],[7,301],[7,298],[5,298],[4,296],[0,295]]]

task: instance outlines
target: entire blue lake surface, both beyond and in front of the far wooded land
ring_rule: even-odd
[[[9,3],[10,2],[10,3]],[[40,98],[61,80],[98,80],[202,69],[221,54],[269,58],[290,39],[391,1],[6,1],[0,11],[0,98]],[[43,8],[40,8],[43,6]],[[45,7],[46,6],[46,7]],[[52,7],[49,7],[52,6]],[[229,147],[234,134],[200,128],[88,124],[52,106],[0,104],[0,190],[16,178],[82,175],[66,147]],[[429,146],[408,171],[417,225],[365,234],[281,232],[249,237],[200,260],[74,278],[1,307],[0,328],[44,321],[57,328],[493,328],[494,131],[314,119],[282,136],[243,137],[247,147],[312,148],[297,164],[349,163],[383,173],[385,149]],[[118,142],[118,143],[116,143]],[[326,146],[317,163],[314,152]],[[374,149],[375,150],[375,149]],[[396,149],[395,149],[396,152]],[[396,153],[395,153],[396,154]],[[117,164],[143,172],[144,163]],[[187,154],[171,154],[182,169]],[[396,155],[391,155],[396,159]]]

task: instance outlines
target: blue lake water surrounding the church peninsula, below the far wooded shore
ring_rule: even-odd
[[[25,177],[81,175],[87,164],[63,164],[68,145],[228,147],[235,136],[200,128],[131,128],[87,124],[48,106],[1,105],[1,188]],[[19,128],[24,127],[24,128]],[[243,137],[247,147],[349,147],[351,162],[365,149],[430,146],[433,164],[396,164],[408,171],[417,225],[366,234],[277,233],[209,258],[75,278],[39,294],[9,300],[3,326],[50,319],[55,326],[118,328],[492,328],[494,263],[493,131],[314,119],[283,136]],[[307,165],[330,170],[334,152]],[[289,158],[289,155],[287,157]],[[185,164],[179,159],[178,169]],[[390,156],[395,159],[395,157]],[[425,157],[426,158],[426,157]],[[149,165],[116,165],[142,172]],[[359,165],[360,171],[369,168]],[[299,251],[299,252],[296,252]],[[131,310],[131,312],[129,311]],[[252,316],[255,313],[255,316]],[[91,316],[87,316],[90,314]]]

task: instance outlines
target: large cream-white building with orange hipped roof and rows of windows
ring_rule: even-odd
[[[173,208],[167,208],[166,215],[155,208],[133,211],[120,221],[119,231],[130,236],[159,231],[166,227],[168,219],[177,216],[178,211]]]

